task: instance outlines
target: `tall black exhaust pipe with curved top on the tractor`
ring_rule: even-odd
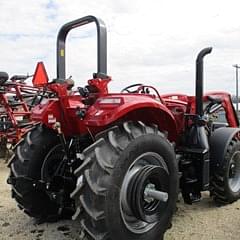
[[[212,47],[202,49],[196,59],[196,114],[203,116],[203,58],[212,52]]]

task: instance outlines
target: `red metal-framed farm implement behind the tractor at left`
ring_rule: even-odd
[[[0,146],[1,157],[6,157],[8,146],[14,146],[31,129],[31,109],[47,96],[43,88],[25,81],[31,76],[0,72]]]

